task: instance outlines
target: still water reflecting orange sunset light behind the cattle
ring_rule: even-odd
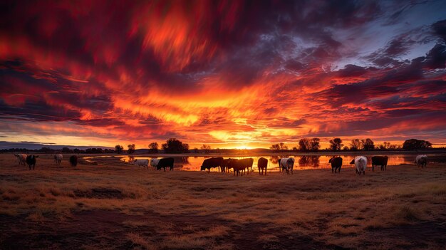
[[[255,156],[251,157],[254,159],[254,164],[252,165],[253,171],[258,171],[257,169],[257,161],[260,157],[264,157],[268,159],[268,172],[279,171],[279,165],[277,161],[281,157],[294,157],[296,160],[294,162],[294,170],[314,170],[314,169],[326,169],[331,168],[331,165],[328,164],[328,160],[330,160],[331,155],[283,155],[283,156]],[[342,167],[353,167],[349,163],[353,160],[356,155],[341,155],[343,159]],[[368,158],[368,166],[371,167],[372,156],[367,156]],[[388,155],[388,165],[400,165],[400,164],[413,164],[415,160],[415,155]],[[173,157],[175,159],[175,169],[176,170],[185,170],[185,171],[199,171],[204,159],[210,157],[203,156],[186,156],[186,157]],[[224,157],[226,159],[227,157]],[[237,159],[243,159],[248,157],[232,157]],[[138,159],[152,159],[151,157],[122,157],[120,160],[125,162],[131,162],[133,160]],[[214,168],[212,171],[218,171],[218,168]]]

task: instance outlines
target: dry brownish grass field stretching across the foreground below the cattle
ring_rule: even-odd
[[[445,249],[446,164],[258,172],[36,170],[0,155],[0,249]]]

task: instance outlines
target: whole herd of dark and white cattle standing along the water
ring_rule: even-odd
[[[15,154],[14,155],[19,162],[19,165],[26,166],[28,165],[29,170],[34,170],[36,168],[36,159],[38,158],[38,155],[26,155],[26,154]],[[56,154],[54,155],[54,162],[56,165],[61,165],[63,159],[63,155]],[[373,156],[372,159],[372,171],[375,171],[375,166],[380,166],[381,170],[387,170],[387,162],[388,157],[387,156]],[[69,158],[69,162],[71,167],[76,167],[78,165],[78,156],[71,155]],[[152,158],[150,160],[148,159],[140,159],[140,160],[133,160],[131,162],[133,165],[138,165],[140,168],[145,167],[148,169],[149,165],[151,167],[155,167],[157,170],[163,169],[166,171],[166,167],[169,167],[169,170],[172,171],[174,167],[174,158],[167,157],[167,158]],[[279,165],[279,172],[286,172],[289,174],[291,172],[291,175],[293,174],[293,168],[294,168],[294,158],[293,157],[286,157],[286,158],[280,158],[277,161]],[[415,157],[414,162],[418,167],[426,167],[427,165],[427,155],[417,155]],[[252,158],[244,158],[244,159],[235,159],[235,158],[228,158],[223,159],[223,157],[212,157],[205,159],[202,163],[202,166],[200,170],[210,170],[212,168],[218,168],[219,172],[229,172],[229,170],[233,170],[234,176],[237,174],[237,176],[245,175],[249,173],[249,171],[252,172],[252,165],[254,164],[254,159]],[[331,172],[333,173],[340,173],[341,167],[342,167],[342,158],[341,157],[332,157],[328,164],[331,164]],[[367,157],[365,156],[357,156],[355,157],[351,162],[351,165],[355,166],[356,174],[358,175],[365,175],[365,168],[367,167]],[[268,167],[268,160],[264,157],[260,157],[257,161],[257,167],[259,169],[259,175],[266,175],[266,169]]]

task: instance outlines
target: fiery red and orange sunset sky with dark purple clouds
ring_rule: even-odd
[[[446,1],[1,1],[0,140],[446,145]]]

